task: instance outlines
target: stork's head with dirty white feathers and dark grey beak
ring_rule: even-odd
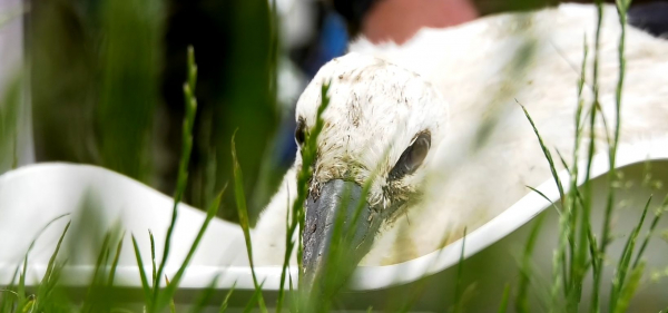
[[[384,60],[350,53],[325,65],[302,94],[295,131],[301,148],[316,123],[326,82],[330,105],[322,115],[303,229],[302,271],[308,285],[327,275],[334,248],[352,271],[380,229],[420,199],[448,121],[448,106],[425,79]],[[335,229],[336,218],[342,229]],[[336,242],[336,236],[347,239]]]

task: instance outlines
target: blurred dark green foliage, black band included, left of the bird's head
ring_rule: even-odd
[[[246,189],[269,190],[249,197],[256,219],[282,174],[269,163],[262,175],[272,179],[257,186],[277,125],[267,1],[53,0],[37,1],[31,14],[38,162],[97,164],[171,194],[193,45],[200,109],[185,202],[207,207],[230,179],[229,138],[239,128]],[[233,197],[223,204],[235,221]]]

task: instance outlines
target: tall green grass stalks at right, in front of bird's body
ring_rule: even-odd
[[[530,117],[530,114],[522,107],[527,119],[533,127],[536,136],[538,138],[538,143],[542,148],[546,159],[550,166],[550,170],[552,173],[552,177],[560,193],[561,200],[561,211],[559,218],[559,244],[558,248],[554,253],[553,258],[553,271],[552,271],[552,290],[551,290],[551,311],[566,311],[566,312],[578,312],[579,305],[582,296],[582,287],[588,274],[591,274],[592,277],[592,293],[591,299],[589,301],[590,309],[589,312],[601,312],[603,307],[599,301],[602,285],[602,276],[606,267],[606,260],[610,256],[607,255],[607,248],[610,245],[612,238],[610,237],[611,233],[611,219],[613,215],[615,199],[616,199],[616,187],[615,184],[619,179],[618,172],[616,169],[616,158],[617,158],[617,149],[619,145],[619,136],[621,129],[621,94],[623,87],[623,78],[626,70],[626,59],[625,59],[625,35],[626,35],[626,14],[629,8],[630,1],[617,1],[617,10],[619,16],[619,22],[621,25],[621,32],[619,38],[618,46],[618,59],[619,59],[619,77],[616,89],[616,107],[615,107],[615,124],[613,128],[609,129],[609,125],[606,120],[606,117],[602,115],[600,102],[599,102],[599,47],[600,47],[600,32],[601,32],[601,21],[602,21],[602,2],[597,1],[597,12],[598,12],[598,22],[596,29],[596,39],[595,39],[595,57],[593,57],[593,100],[589,105],[588,116],[589,120],[584,120],[582,118],[583,111],[583,100],[581,98],[582,88],[584,86],[586,72],[587,72],[587,40],[584,40],[584,53],[582,58],[581,66],[581,76],[578,84],[578,106],[576,109],[576,133],[574,133],[574,149],[572,156],[572,164],[569,166],[562,158],[562,163],[570,175],[569,183],[569,192],[564,194],[563,192],[563,183],[560,177],[557,175],[554,162],[550,154],[549,147],[547,147],[540,136],[537,126]],[[608,186],[607,186],[607,199],[606,199],[606,208],[603,214],[603,221],[601,225],[601,237],[597,237],[593,234],[593,225],[591,222],[591,212],[592,212],[592,202],[593,202],[593,192],[591,186],[591,167],[593,162],[593,155],[596,151],[596,125],[597,123],[601,123],[605,128],[605,135],[608,141],[608,160],[609,160],[609,172],[608,172]],[[579,151],[580,146],[582,144],[582,133],[589,131],[589,143],[587,146],[587,163],[586,163],[586,173],[584,173],[584,182],[582,190],[578,188],[578,177],[580,177],[579,173]],[[610,133],[612,133],[612,137],[610,137]],[[533,189],[533,188],[532,188]],[[540,193],[533,189],[537,193]],[[544,195],[540,194],[544,197]],[[547,198],[547,197],[546,197]],[[609,293],[609,303],[608,311],[609,312],[626,312],[628,309],[629,302],[632,299],[638,284],[640,282],[640,277],[642,276],[642,271],[645,270],[645,263],[641,261],[649,238],[654,233],[656,225],[659,222],[659,218],[662,215],[662,212],[666,207],[666,202],[664,202],[657,213],[655,214],[655,218],[650,225],[647,236],[645,237],[641,247],[636,251],[636,241],[638,238],[639,232],[644,226],[645,218],[650,206],[651,197],[647,200],[640,219],[637,225],[631,231],[630,236],[628,237],[626,244],[623,245],[621,255],[619,256],[618,264],[615,267],[615,275],[610,286]],[[531,241],[528,243],[528,250],[531,246]],[[635,256],[633,256],[635,254]],[[631,260],[635,260],[631,262]],[[627,280],[627,274],[631,273]],[[562,290],[562,293],[560,293]],[[560,300],[560,297],[562,299]],[[522,302],[520,302],[521,304]],[[564,306],[561,306],[561,303],[564,303]],[[525,304],[522,305],[521,312],[527,312]]]

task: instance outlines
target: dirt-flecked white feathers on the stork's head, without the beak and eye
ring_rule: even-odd
[[[407,198],[419,193],[433,153],[412,175],[391,184],[387,175],[416,135],[429,133],[431,150],[439,148],[448,124],[448,106],[439,91],[414,72],[348,53],[325,65],[299,97],[296,118],[306,129],[315,124],[324,82],[331,84],[330,105],[317,138],[313,188],[332,179],[364,185],[376,173],[367,197],[374,208],[389,206],[390,194]]]

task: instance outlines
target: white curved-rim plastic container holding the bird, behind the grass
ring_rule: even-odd
[[[609,248],[609,262],[602,281],[602,303],[607,303],[612,268],[619,260],[626,236],[637,224],[640,212],[650,193],[654,193],[651,212],[666,195],[666,187],[651,190],[644,187],[647,165],[650,165],[652,179],[668,182],[668,147],[642,144],[620,147],[618,168],[625,174],[625,187],[617,198],[626,202],[626,208],[615,214],[613,235],[622,238],[613,242]],[[605,174],[608,169],[606,156],[595,158],[592,174],[596,195],[592,221],[595,227],[602,224],[602,211],[607,193]],[[562,175],[563,179],[568,179]],[[552,200],[558,200],[553,180],[538,186]],[[94,209],[77,211],[81,206]],[[148,229],[156,238],[156,253],[161,255],[161,246],[171,217],[173,199],[138,182],[117,173],[87,165],[39,164],[19,168],[0,176],[0,285],[7,285],[19,263],[22,261],[30,242],[39,231],[55,217],[71,213],[50,225],[39,237],[29,255],[28,283],[41,280],[46,265],[56,243],[68,221],[72,227],[61,251],[68,255],[66,275],[62,283],[71,287],[85,287],[94,268],[97,248],[105,229],[119,222],[127,231],[122,246],[116,283],[129,290],[140,290],[139,272],[136,265],[130,234],[139,242],[140,251],[150,268],[150,245]],[[78,223],[84,214],[96,216],[92,221]],[[337,304],[344,309],[366,310],[401,304],[412,294],[420,294],[414,310],[443,311],[452,305],[458,263],[464,244],[462,264],[462,287],[469,301],[468,312],[495,311],[507,283],[517,286],[519,264],[528,234],[536,217],[546,215],[533,253],[530,286],[532,297],[536,294],[549,295],[552,273],[552,253],[557,245],[558,214],[550,204],[536,193],[517,202],[501,215],[482,227],[470,232],[460,239],[422,257],[389,266],[358,267],[350,282],[350,290]],[[205,214],[187,205],[180,205],[178,219],[171,243],[171,253],[167,264],[168,276],[173,276],[184,260],[197,234]],[[649,224],[654,214],[648,216]],[[87,218],[86,221],[91,221]],[[658,238],[658,234],[668,227],[664,219],[657,227],[657,235],[646,251],[647,267],[638,295],[631,303],[630,312],[657,312],[668,306],[668,281],[658,283],[649,278],[652,272],[668,268],[668,243]],[[646,228],[641,232],[645,236]],[[600,236],[600,229],[595,234]],[[77,236],[72,238],[72,236]],[[85,236],[85,237],[81,237]],[[73,244],[76,243],[76,245]],[[206,288],[220,275],[216,287],[224,294],[236,282],[233,305],[245,305],[250,297],[253,280],[246,264],[246,248],[240,227],[220,219],[212,221],[194,260],[181,281],[181,294],[177,301],[188,302],[190,295]],[[279,285],[281,266],[256,267],[259,281],[264,281],[265,296],[275,299]],[[292,268],[292,277],[297,276]],[[424,278],[423,278],[424,277]],[[296,280],[295,280],[296,281]],[[588,277],[590,283],[591,277]],[[296,282],[295,282],[296,283]],[[538,283],[538,285],[536,285]],[[471,287],[474,285],[473,287]],[[589,286],[583,291],[583,303],[589,299]],[[549,299],[549,297],[548,297]],[[397,301],[400,301],[397,303]],[[583,305],[584,305],[583,304]],[[540,303],[536,302],[537,309]],[[588,306],[583,306],[587,307]],[[605,310],[603,310],[605,311]]]

